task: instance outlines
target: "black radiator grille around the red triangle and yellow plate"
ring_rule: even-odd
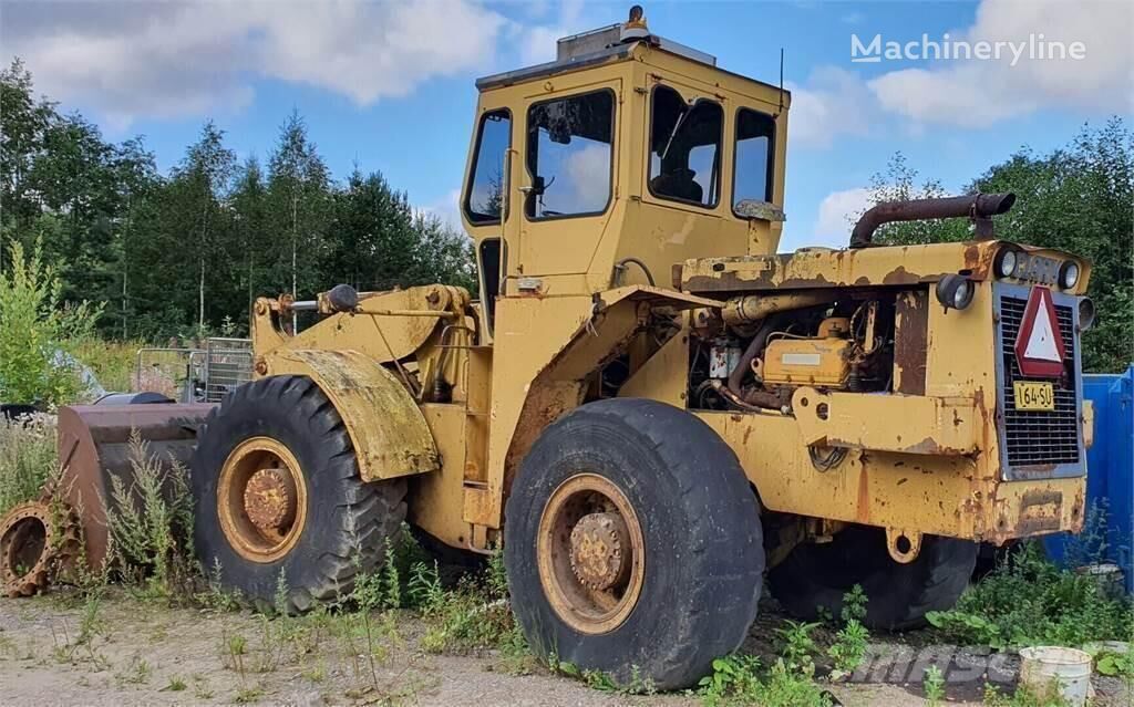
[[[1016,363],[1016,337],[1027,300],[1007,295],[1000,298],[1000,357],[1004,366],[1004,398],[1014,400],[1013,383],[1025,381]],[[1069,375],[1055,382],[1056,409],[1021,411],[1004,406],[1005,448],[1008,466],[1078,463],[1078,409],[1075,391],[1075,318],[1070,307],[1056,305],[1063,335],[1065,364]]]

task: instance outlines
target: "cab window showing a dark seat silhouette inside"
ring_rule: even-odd
[[[699,100],[692,105],[668,86],[653,90],[650,127],[650,191],[699,206],[717,205],[725,111]]]

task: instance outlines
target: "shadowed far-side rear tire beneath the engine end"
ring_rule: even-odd
[[[925,623],[931,611],[953,608],[976,564],[978,545],[934,535],[907,564],[886,550],[881,528],[850,526],[830,543],[799,545],[768,573],[772,596],[804,620],[838,616],[843,595],[861,585],[871,629],[902,631]]]

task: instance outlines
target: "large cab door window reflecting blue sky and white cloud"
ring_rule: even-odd
[[[615,95],[600,91],[527,111],[531,219],[598,214],[610,203]]]

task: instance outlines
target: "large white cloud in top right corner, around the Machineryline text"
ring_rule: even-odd
[[[1069,46],[1082,42],[1085,58],[937,60],[929,68],[903,69],[869,83],[882,108],[930,123],[968,128],[1044,108],[1129,112],[1134,66],[1134,5],[1091,0],[984,0],[972,27],[951,41],[1025,42],[1034,37]],[[936,37],[931,37],[936,39]]]

